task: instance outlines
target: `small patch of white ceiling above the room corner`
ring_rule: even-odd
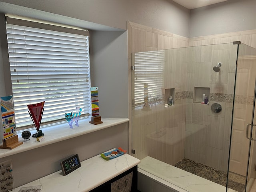
[[[195,9],[226,0],[173,0],[174,2],[186,7],[187,9]]]

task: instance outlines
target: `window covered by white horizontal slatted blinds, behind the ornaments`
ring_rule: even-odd
[[[71,33],[76,32],[73,29],[63,32],[63,27],[15,21],[7,18],[6,31],[16,127],[32,125],[27,105],[42,101],[42,123],[64,119],[66,112],[78,111],[76,107],[88,116],[90,57],[86,31],[80,31],[81,35]]]

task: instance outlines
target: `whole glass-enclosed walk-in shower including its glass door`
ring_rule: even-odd
[[[233,42],[139,52],[132,60],[133,156],[141,164],[157,161],[191,172],[224,191],[250,192],[256,49]]]

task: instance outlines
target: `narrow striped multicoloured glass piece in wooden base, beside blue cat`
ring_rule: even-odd
[[[91,98],[92,98],[92,117],[89,123],[97,125],[103,123],[101,121],[100,110],[99,110],[99,99],[98,99],[98,87],[91,87]]]

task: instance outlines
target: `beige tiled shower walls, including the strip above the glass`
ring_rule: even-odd
[[[133,22],[127,22],[127,29],[129,68],[133,52],[181,48],[172,53],[172,63],[175,61],[176,65],[170,67],[170,58],[166,58],[165,66],[164,88],[175,89],[174,106],[165,108],[160,104],[133,109],[130,83],[130,149],[135,150],[134,156],[151,156],[171,165],[186,157],[227,170],[235,72],[232,64],[236,59],[232,54],[236,46],[193,46],[240,40],[256,48],[256,30],[184,38]],[[187,53],[195,56],[185,57]],[[212,70],[218,62],[222,62],[221,73]],[[210,105],[193,103],[195,86],[210,88]],[[210,110],[214,102],[222,105],[218,114]]]

